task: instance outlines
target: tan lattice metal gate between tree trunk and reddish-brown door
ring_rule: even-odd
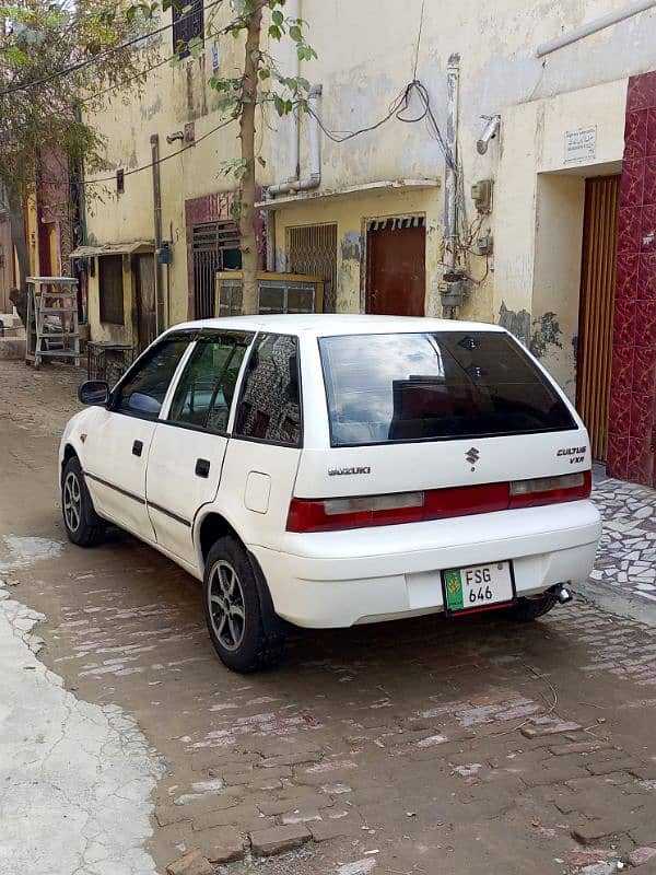
[[[324,313],[337,303],[337,225],[288,228],[288,270],[324,278]]]

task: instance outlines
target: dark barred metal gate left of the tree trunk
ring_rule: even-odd
[[[194,301],[197,319],[214,315],[216,271],[242,267],[239,231],[234,222],[208,222],[191,230]]]

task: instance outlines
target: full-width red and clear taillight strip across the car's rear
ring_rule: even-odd
[[[396,492],[347,499],[292,499],[288,532],[336,532],[368,526],[420,523],[532,508],[588,498],[591,474],[540,477],[534,480],[483,483],[424,492]]]

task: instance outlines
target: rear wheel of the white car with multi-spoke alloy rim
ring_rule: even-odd
[[[269,628],[248,553],[230,535],[208,553],[203,604],[212,644],[227,668],[247,674],[280,661],[283,637]]]

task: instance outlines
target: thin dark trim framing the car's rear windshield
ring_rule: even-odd
[[[553,434],[555,432],[567,432],[567,431],[578,431],[581,428],[576,416],[572,410],[572,406],[566,398],[564,392],[558,385],[558,383],[551,377],[548,371],[542,368],[542,365],[538,362],[538,360],[532,357],[528,350],[524,348],[522,343],[519,343],[516,338],[514,338],[509,331],[500,331],[500,330],[485,330],[482,334],[490,334],[490,335],[509,335],[511,339],[515,341],[517,346],[517,352],[524,360],[537,369],[540,374],[540,377],[544,380],[551,389],[554,392],[555,396],[560,400],[560,402],[566,408],[571,425],[567,428],[553,428],[553,429],[534,429],[531,431],[511,431],[511,432],[494,432],[493,434],[490,433],[481,433],[477,432],[476,434],[444,434],[437,438],[403,438],[398,441],[371,441],[366,443],[336,443],[335,438],[332,435],[332,417],[330,415],[330,404],[328,400],[328,375],[326,373],[326,365],[324,362],[324,355],[321,354],[321,340],[336,338],[336,337],[382,337],[389,331],[374,331],[374,332],[366,332],[366,334],[356,334],[355,331],[349,335],[320,335],[317,337],[317,352],[319,355],[319,363],[321,365],[321,376],[324,380],[324,401],[326,404],[326,413],[328,416],[328,439],[330,442],[331,450],[356,450],[359,447],[368,447],[368,446],[400,446],[402,444],[425,444],[425,443],[445,443],[447,441],[475,441],[475,440],[484,440],[488,438],[520,438],[520,436],[528,436],[530,434]],[[393,334],[403,334],[403,335],[435,335],[436,331],[394,331]]]

